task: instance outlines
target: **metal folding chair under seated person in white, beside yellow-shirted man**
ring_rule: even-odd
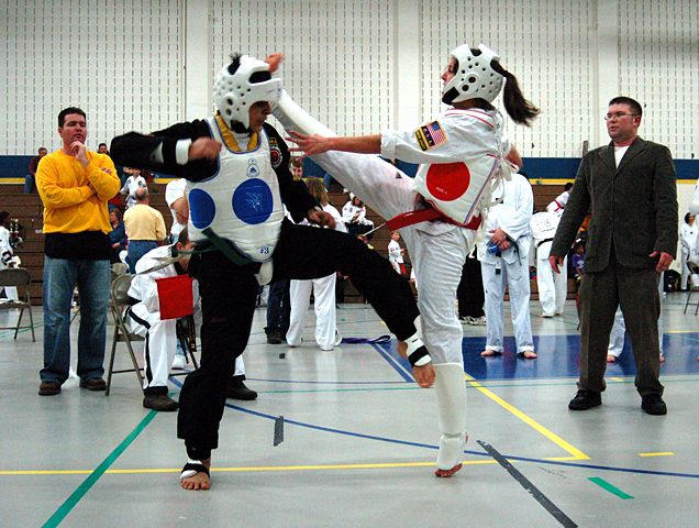
[[[114,272],[114,270],[112,270],[112,272]],[[114,273],[114,275],[116,275],[116,273]],[[145,338],[130,332],[129,327],[126,326],[126,321],[124,320],[124,311],[129,306],[133,305],[132,299],[129,297],[129,288],[131,287],[131,280],[133,279],[133,275],[127,274],[116,275],[116,277],[112,280],[110,309],[114,319],[114,337],[112,339],[112,350],[110,353],[109,367],[107,371],[107,396],[109,396],[110,393],[112,374],[135,372],[136,376],[138,377],[138,386],[143,387],[143,374],[141,373],[143,367],[138,365],[138,361],[136,359],[136,354],[134,353],[132,343],[145,341]],[[199,363],[197,362],[197,359],[193,354],[193,352],[197,351],[193,317],[189,316],[182,319],[178,319],[176,331],[177,339],[182,346],[182,350],[185,351],[185,355],[191,359],[195,369],[199,369]],[[118,371],[114,370],[114,355],[116,352],[116,343],[119,342],[123,342],[126,344],[133,369],[122,369]],[[189,372],[185,371],[171,373],[170,376],[186,376],[187,374],[189,374]]]

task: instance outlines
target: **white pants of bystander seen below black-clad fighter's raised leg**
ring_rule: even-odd
[[[335,314],[335,280],[336,274],[311,280],[291,280],[289,298],[291,315],[289,316],[289,330],[287,343],[289,346],[301,344],[303,327],[308,318],[308,308],[311,304],[311,292],[314,297],[315,309],[315,342],[321,350],[333,350],[335,342],[336,314]]]

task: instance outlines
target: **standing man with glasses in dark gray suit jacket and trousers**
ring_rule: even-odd
[[[636,362],[641,407],[665,415],[659,377],[659,274],[677,249],[677,186],[669,150],[637,135],[643,110],[628,97],[609,101],[611,143],[580,164],[548,257],[557,273],[588,211],[591,220],[579,290],[580,380],[572,410],[601,405],[609,333],[621,305]]]

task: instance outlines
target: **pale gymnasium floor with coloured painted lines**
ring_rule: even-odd
[[[258,309],[245,362],[259,397],[228,400],[213,487],[199,493],[178,485],[176,414],[144,409],[134,374],[116,375],[109,397],[77,380],[37,396],[35,309],[36,343],[0,331],[0,526],[699,526],[699,332],[694,307],[683,315],[686,295],[664,300],[664,417],[641,410],[630,350],[609,367],[601,407],[567,409],[579,351],[573,304],[541,319],[532,302],[536,361],[517,359],[512,341],[484,360],[485,327],[464,327],[470,440],[453,479],[432,474],[434,395],[412,382],[395,341],[321,352],[310,316],[311,342],[269,345]],[[14,317],[1,312],[0,326]],[[337,317],[346,338],[386,333],[362,305]]]

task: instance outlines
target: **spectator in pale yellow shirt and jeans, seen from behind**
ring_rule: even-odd
[[[124,213],[124,226],[129,238],[126,261],[130,273],[136,273],[136,262],[148,251],[155,250],[166,237],[163,215],[148,205],[148,189],[145,187],[137,189],[135,199],[136,205],[126,209]]]

